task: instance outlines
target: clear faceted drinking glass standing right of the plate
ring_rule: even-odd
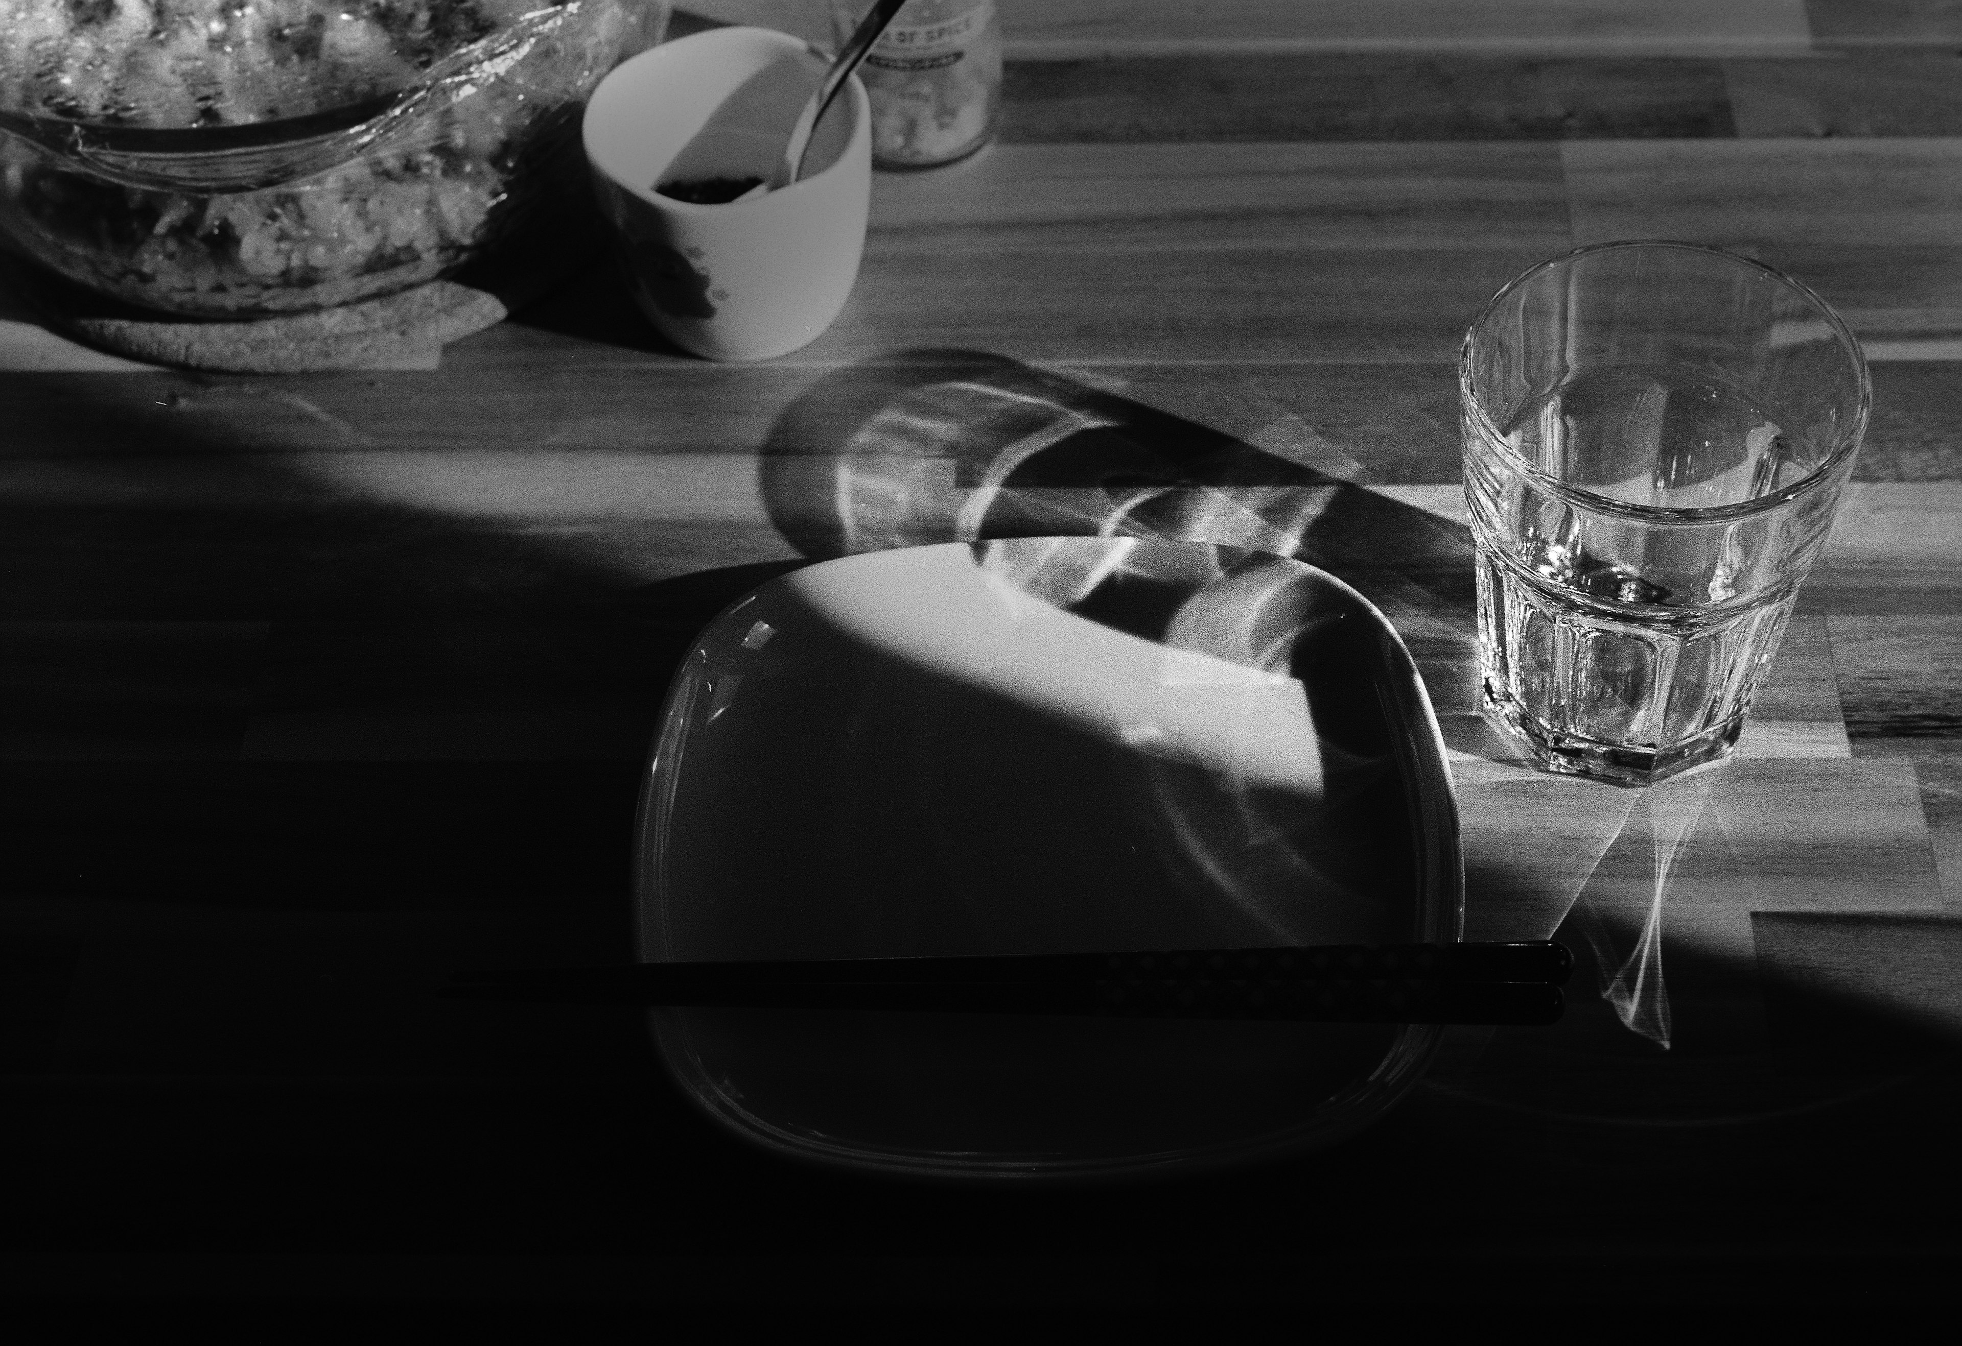
[[[1727,755],[1866,430],[1866,359],[1791,277],[1603,243],[1501,288],[1460,359],[1485,710],[1550,769]]]

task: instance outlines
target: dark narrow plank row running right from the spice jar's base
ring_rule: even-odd
[[[1931,137],[1954,51],[1560,57],[1456,51],[1010,61],[1005,143]]]

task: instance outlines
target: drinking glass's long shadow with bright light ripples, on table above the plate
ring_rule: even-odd
[[[934,542],[1136,536],[1287,555],[1411,644],[1454,748],[1511,759],[1475,702],[1472,538],[1354,479],[1059,373],[961,349],[838,369],[779,416],[763,502],[812,559]],[[1470,679],[1470,681],[1468,681]]]

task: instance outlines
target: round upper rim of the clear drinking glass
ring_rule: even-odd
[[[1548,471],[1542,471],[1540,467],[1534,467],[1524,457],[1521,457],[1511,443],[1507,443],[1505,436],[1499,432],[1491,416],[1485,412],[1485,404],[1472,388],[1473,339],[1485,328],[1487,320],[1493,316],[1499,304],[1505,302],[1505,298],[1513,290],[1521,288],[1540,273],[1550,271],[1562,263],[1570,263],[1577,257],[1585,257],[1589,253],[1625,251],[1634,247],[1654,247],[1654,249],[1666,247],[1687,253],[1707,253],[1711,257],[1723,257],[1725,261],[1732,261],[1752,271],[1762,271],[1764,275],[1778,281],[1785,288],[1797,292],[1797,296],[1803,298],[1807,304],[1811,304],[1811,308],[1825,320],[1833,336],[1838,337],[1840,347],[1852,357],[1854,375],[1858,377],[1860,385],[1860,400],[1858,408],[1854,410],[1852,422],[1840,432],[1838,443],[1833,445],[1833,451],[1825,455],[1819,467],[1805,473],[1789,487],[1780,487],[1778,491],[1752,496],[1750,500],[1738,500],[1734,504],[1668,508],[1656,504],[1634,504],[1630,500],[1617,500],[1613,496],[1587,491],[1585,487],[1575,487],[1568,481],[1554,477]],[[1811,494],[1827,481],[1831,481],[1833,475],[1840,467],[1844,467],[1846,461],[1854,455],[1854,451],[1860,447],[1860,440],[1866,436],[1866,422],[1874,410],[1874,381],[1872,375],[1868,373],[1866,349],[1860,345],[1860,339],[1852,334],[1846,322],[1833,310],[1833,306],[1827,304],[1823,298],[1819,298],[1819,294],[1803,281],[1795,281],[1778,267],[1770,267],[1758,261],[1756,257],[1744,257],[1742,253],[1732,253],[1730,249],[1725,247],[1711,247],[1709,243],[1685,243],[1679,239],[1615,239],[1609,243],[1587,243],[1585,247],[1575,247],[1568,253],[1560,253],[1558,257],[1548,257],[1546,261],[1534,263],[1532,267],[1521,271],[1517,277],[1501,285],[1493,292],[1493,296],[1485,300],[1485,306],[1477,310],[1477,316],[1472,320],[1472,326],[1466,328],[1464,343],[1458,349],[1458,404],[1464,410],[1464,414],[1472,420],[1479,438],[1483,438],[1493,449],[1505,455],[1505,459],[1517,471],[1524,473],[1534,483],[1544,487],[1548,492],[1568,500],[1570,504],[1577,504],[1597,514],[1642,520],[1646,524],[1709,524],[1732,518],[1750,518],[1754,514],[1776,510],[1780,506],[1791,504],[1803,494]]]

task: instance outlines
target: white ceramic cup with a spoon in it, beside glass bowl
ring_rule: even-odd
[[[716,27],[622,63],[587,102],[585,145],[634,300],[708,359],[812,341],[852,294],[871,200],[871,104],[857,77],[810,135],[804,177],[702,206],[655,192],[767,179],[828,59],[763,27]]]

